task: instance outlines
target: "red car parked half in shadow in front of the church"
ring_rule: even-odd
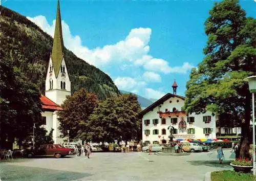
[[[39,148],[26,150],[24,154],[27,157],[34,156],[54,156],[56,158],[64,157],[66,155],[71,155],[74,152],[72,148],[65,148],[58,144],[47,144],[41,145]]]

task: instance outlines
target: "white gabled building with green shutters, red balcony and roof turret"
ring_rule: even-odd
[[[168,143],[168,126],[175,128],[175,139],[216,139],[216,118],[212,112],[196,115],[181,110],[185,97],[166,94],[140,112],[142,118],[142,142]]]

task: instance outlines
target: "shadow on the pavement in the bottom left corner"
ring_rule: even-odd
[[[2,180],[79,180],[91,176],[89,173],[51,170],[37,167],[1,165]]]

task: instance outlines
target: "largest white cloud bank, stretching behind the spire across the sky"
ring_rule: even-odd
[[[35,22],[42,30],[54,35],[55,20],[50,25],[45,16],[39,15],[36,17],[27,17],[29,20]],[[97,47],[95,49],[88,49],[82,45],[81,38],[79,36],[73,36],[70,32],[68,24],[65,21],[61,21],[63,40],[65,46],[71,50],[77,57],[93,64],[97,67],[103,67],[110,63],[124,64],[127,62],[131,65],[137,65],[144,67],[147,71],[155,71],[161,73],[186,73],[191,69],[193,65],[185,62],[183,66],[171,67],[168,62],[163,59],[154,58],[149,55],[150,42],[152,30],[150,28],[135,28],[132,29],[129,35],[124,40],[121,40],[115,44],[106,45],[102,48]],[[120,66],[121,67],[121,66]],[[121,67],[122,70],[125,67]]]

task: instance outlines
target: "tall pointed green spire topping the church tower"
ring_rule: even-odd
[[[61,18],[60,18],[60,9],[59,9],[59,0],[58,0],[55,32],[54,32],[52,55],[51,55],[53,69],[54,69],[56,78],[59,73],[59,69],[60,69],[60,65],[63,57],[63,51],[64,51],[64,43],[62,38]]]

